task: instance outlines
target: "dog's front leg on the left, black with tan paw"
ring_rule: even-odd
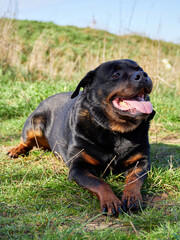
[[[85,152],[76,158],[71,166],[69,177],[83,188],[97,196],[101,211],[110,215],[121,213],[121,201],[115,196],[111,187],[94,175],[95,165],[98,161]]]

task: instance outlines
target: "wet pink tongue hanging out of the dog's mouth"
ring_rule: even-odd
[[[145,101],[142,98],[136,97],[132,99],[114,99],[113,104],[116,108],[123,110],[123,111],[129,111],[132,110],[134,113],[136,111],[150,114],[153,110],[153,106],[151,102]]]

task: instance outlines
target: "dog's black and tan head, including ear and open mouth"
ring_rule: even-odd
[[[129,132],[154,111],[149,94],[152,81],[134,61],[124,59],[101,64],[80,81],[72,98],[79,94],[89,102],[89,111],[99,124],[112,131]]]

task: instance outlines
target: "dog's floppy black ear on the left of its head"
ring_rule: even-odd
[[[95,76],[95,72],[96,72],[96,70],[90,71],[85,75],[85,77],[77,85],[75,91],[71,95],[71,98],[75,98],[79,94],[79,91],[80,91],[81,87],[84,88],[84,87],[92,84],[94,76]]]

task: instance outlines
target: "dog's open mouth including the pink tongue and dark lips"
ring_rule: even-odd
[[[153,106],[150,101],[145,100],[146,94],[141,91],[139,94],[131,98],[121,98],[114,96],[112,99],[112,105],[115,109],[123,112],[128,112],[130,114],[150,114],[153,111]]]

